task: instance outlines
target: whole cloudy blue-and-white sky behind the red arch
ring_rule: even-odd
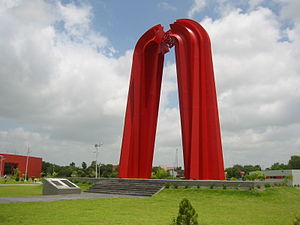
[[[0,153],[117,164],[132,51],[150,27],[198,21],[213,48],[225,166],[300,155],[299,0],[0,0]],[[182,164],[174,50],[154,165]]]

